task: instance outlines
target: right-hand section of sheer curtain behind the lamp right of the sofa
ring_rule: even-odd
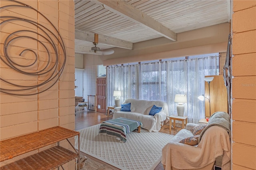
[[[216,57],[168,61],[167,104],[170,114],[177,115],[175,95],[185,94],[187,103],[185,103],[184,115],[188,116],[188,122],[198,123],[205,117],[204,101],[200,101],[198,96],[204,94],[204,76],[216,75],[218,71],[216,62]]]

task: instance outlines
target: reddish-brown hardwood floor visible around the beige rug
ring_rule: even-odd
[[[109,119],[112,119],[112,116],[110,116]],[[91,127],[93,125],[98,125],[103,121],[107,121],[107,120],[108,120],[108,116],[105,113],[99,113],[99,112],[93,112],[93,111],[79,111],[79,112],[77,111],[75,116],[75,121],[76,121],[75,130],[80,130],[83,128]],[[176,123],[176,128],[172,129],[171,133],[169,133],[169,122],[168,122],[162,126],[159,132],[175,135],[181,129],[180,127],[181,125]],[[93,160],[99,161],[101,164],[106,164],[105,162],[102,162],[89,155],[86,155],[86,156],[90,157]],[[106,167],[112,167],[112,170],[118,170],[117,168],[109,164],[106,164]],[[155,170],[164,170],[164,167],[161,162],[158,164]]]

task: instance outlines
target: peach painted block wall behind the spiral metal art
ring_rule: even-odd
[[[22,1],[44,14],[58,29],[60,35],[64,40],[66,46],[66,65],[62,76],[57,83],[44,93],[32,96],[14,96],[4,93],[0,93],[0,140],[6,138],[12,138],[14,136],[20,136],[23,134],[35,132],[45,128],[54,126],[61,126],[74,130],[75,117],[74,117],[74,72],[75,72],[75,57],[74,57],[74,1],[71,0],[27,0]],[[10,2],[1,0],[1,6],[7,5]],[[42,17],[38,17],[34,13],[26,12],[29,10],[16,10],[15,13],[7,11],[8,15],[17,15],[33,19],[40,22],[46,22]],[[6,10],[1,10],[1,16],[6,15]],[[24,16],[26,15],[26,16]],[[0,37],[1,56],[3,54],[3,41],[7,34],[16,31],[20,26],[7,25],[6,32],[2,32]],[[26,25],[24,25],[26,26]],[[48,25],[50,28],[50,25]],[[28,29],[28,28],[26,28]],[[52,28],[50,28],[52,29]],[[28,40],[24,38],[22,44],[28,43]],[[29,44],[29,43],[28,43]],[[17,45],[17,44],[16,44]],[[30,44],[31,45],[31,44]],[[35,44],[37,46],[38,44]],[[29,46],[29,45],[28,45]],[[38,45],[40,46],[40,45]],[[40,53],[35,48],[36,53]],[[18,52],[17,52],[18,53]],[[47,57],[47,56],[46,56]],[[24,62],[24,60],[22,60]],[[25,62],[21,64],[26,64]],[[59,61],[61,62],[61,61]],[[15,74],[14,71],[0,60],[0,74],[1,78],[6,77],[10,73]],[[16,77],[16,81],[24,81],[24,77]],[[34,79],[40,83],[40,78]],[[29,83],[29,81],[28,81]],[[2,86],[1,82],[1,86]],[[74,144],[74,138],[70,140]],[[18,142],[18,141],[17,141]],[[61,142],[61,145],[72,150],[68,142]],[[33,153],[38,152],[38,150]],[[32,154],[31,152],[28,154]],[[1,166],[6,163],[12,162],[17,158],[28,156],[24,154],[17,156],[11,160],[1,162]],[[74,169],[74,161],[64,165],[65,169]]]

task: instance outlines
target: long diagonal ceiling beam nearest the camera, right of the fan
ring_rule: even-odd
[[[95,0],[95,3],[104,5],[104,8],[127,18],[137,24],[149,28],[172,41],[177,41],[177,34],[166,26],[160,24],[138,8],[135,8],[124,0]]]

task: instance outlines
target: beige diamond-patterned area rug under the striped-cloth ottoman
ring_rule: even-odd
[[[154,170],[161,161],[162,148],[173,135],[144,129],[127,134],[121,143],[115,137],[98,134],[100,124],[78,130],[80,151],[121,170]],[[75,138],[78,149],[78,138]]]

